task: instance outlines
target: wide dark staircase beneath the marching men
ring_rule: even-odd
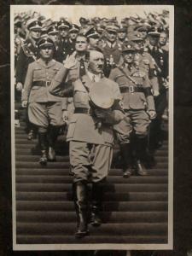
[[[67,143],[60,136],[56,162],[38,163],[37,139],[26,139],[25,122],[15,127],[16,243],[167,243],[168,145],[155,152],[156,166],[147,177],[122,177],[112,168],[103,195],[100,227],[90,236],[74,237]],[[116,147],[115,150],[118,150]]]

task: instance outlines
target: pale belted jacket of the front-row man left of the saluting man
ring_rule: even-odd
[[[61,97],[49,94],[50,81],[55,74],[61,69],[62,64],[55,60],[49,61],[48,64],[42,59],[29,64],[22,101],[28,102],[61,102]]]

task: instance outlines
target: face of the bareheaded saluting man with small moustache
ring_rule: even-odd
[[[89,70],[91,73],[102,73],[104,67],[104,57],[101,52],[90,50]]]

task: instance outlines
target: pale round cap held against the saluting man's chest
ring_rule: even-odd
[[[108,109],[113,106],[114,97],[111,88],[107,84],[98,82],[90,89],[90,101],[97,107]]]

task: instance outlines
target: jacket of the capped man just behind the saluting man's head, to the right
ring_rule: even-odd
[[[115,64],[119,63],[121,55],[121,44],[115,42],[112,47],[109,46],[108,41],[104,41],[102,44],[102,52],[105,58],[110,59],[110,56],[113,56],[113,61]]]

